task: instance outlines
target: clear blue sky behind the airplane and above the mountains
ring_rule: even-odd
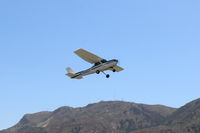
[[[1,0],[0,129],[24,114],[124,100],[180,107],[200,96],[199,0]],[[78,48],[125,71],[65,76],[91,65]]]

